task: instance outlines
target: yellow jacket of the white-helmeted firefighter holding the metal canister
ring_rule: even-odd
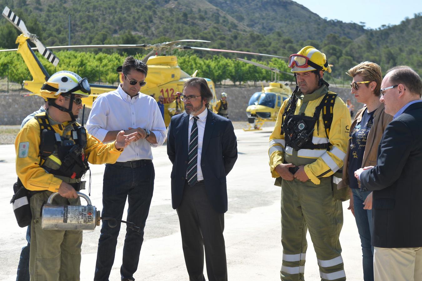
[[[45,112],[41,112],[37,116],[45,114]],[[62,135],[68,122],[53,124],[50,120],[50,125],[54,131]],[[70,135],[70,131],[66,135]],[[62,180],[53,174],[48,174],[41,168],[43,161],[41,161],[40,165],[40,142],[40,125],[35,118],[32,118],[16,136],[16,173],[24,187],[28,190],[49,190],[51,192],[57,192]],[[84,152],[86,155],[89,153],[89,163],[115,163],[122,151],[116,149],[114,142],[103,144],[87,132],[87,149]]]

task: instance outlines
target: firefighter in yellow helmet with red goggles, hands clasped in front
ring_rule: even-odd
[[[346,155],[349,110],[323,80],[331,72],[325,54],[306,46],[289,57],[289,67],[297,86],[281,106],[268,150],[272,177],[281,186],[280,277],[304,280],[309,229],[321,280],[346,280],[338,239],[346,198],[334,174]]]

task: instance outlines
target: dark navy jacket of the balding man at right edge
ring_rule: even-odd
[[[422,246],[422,102],[390,122],[378,147],[377,166],[360,174],[373,191],[372,245]]]

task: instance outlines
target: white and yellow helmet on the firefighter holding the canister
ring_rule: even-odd
[[[88,79],[81,78],[75,72],[62,70],[50,76],[41,87],[40,95],[44,99],[57,99],[61,94],[89,96],[91,88]]]

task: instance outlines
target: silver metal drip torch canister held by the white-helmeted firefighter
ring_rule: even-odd
[[[41,227],[48,230],[94,230],[100,225],[100,211],[91,205],[91,200],[84,193],[78,195],[84,198],[87,206],[53,205],[55,192],[50,195],[47,204],[43,206]]]

